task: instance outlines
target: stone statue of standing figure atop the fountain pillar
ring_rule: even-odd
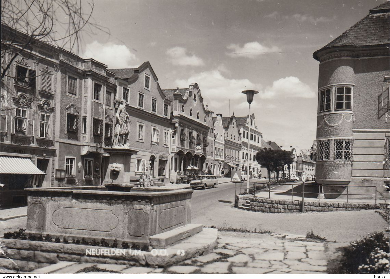
[[[114,129],[114,141],[113,147],[127,147],[127,138],[129,135],[129,114],[126,111],[126,105],[124,100],[121,100],[121,104],[115,114],[115,129]]]

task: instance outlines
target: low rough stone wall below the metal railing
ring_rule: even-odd
[[[249,200],[249,210],[271,213],[291,213],[301,212],[302,201],[300,200],[273,200],[266,198],[254,198],[250,195],[237,196],[238,206]],[[346,202],[318,202],[305,201],[306,212],[326,212],[326,211],[347,211],[361,209],[380,208],[380,204],[374,203],[346,203]]]

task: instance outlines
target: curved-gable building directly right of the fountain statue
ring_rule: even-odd
[[[129,158],[130,175],[136,181],[150,174],[154,181],[168,182],[170,169],[171,101],[165,96],[149,62],[134,69],[110,69],[115,74],[117,96],[129,115],[128,145],[136,154]]]

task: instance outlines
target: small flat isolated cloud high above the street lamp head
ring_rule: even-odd
[[[243,47],[238,44],[230,44],[227,48],[233,51],[226,53],[230,57],[247,57],[252,59],[266,53],[278,53],[281,51],[277,46],[271,46],[269,48],[259,42],[247,42]]]

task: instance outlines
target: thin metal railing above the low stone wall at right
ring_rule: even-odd
[[[349,196],[375,196],[375,203],[377,203],[377,186],[360,186],[360,185],[323,185],[323,184],[308,184],[308,183],[305,183],[306,186],[315,186],[315,187],[318,187],[318,192],[307,192],[305,191],[305,187],[303,187],[303,184],[284,184],[284,183],[258,183],[258,182],[254,182],[254,188],[249,188],[250,190],[252,189],[253,190],[253,196],[256,195],[256,193],[259,193],[259,192],[268,192],[268,198],[270,199],[271,198],[271,193],[284,193],[284,194],[291,194],[291,200],[294,199],[294,194],[301,194],[300,196],[302,198],[305,197],[305,194],[318,194],[318,201],[320,201],[320,198],[321,198],[321,194],[324,194],[324,195],[346,195],[347,196],[347,202],[348,202],[348,197]],[[261,187],[261,189],[257,189],[257,185],[263,185],[263,187]],[[287,192],[287,191],[271,191],[271,187],[273,186],[281,186],[281,185],[291,185],[291,193],[290,192]],[[265,186],[265,187],[264,187]],[[303,191],[294,191],[294,187],[297,187],[297,186],[302,186],[302,190]],[[322,192],[323,187],[322,186],[327,186],[327,187],[347,187],[347,192],[344,193],[344,191],[342,193],[332,193],[332,192]],[[375,188],[375,194],[350,194],[349,193],[349,187],[371,187],[371,188]],[[268,189],[266,189],[268,188]],[[241,192],[242,190],[246,190],[246,188],[241,188]],[[302,195],[303,193],[303,195]]]

